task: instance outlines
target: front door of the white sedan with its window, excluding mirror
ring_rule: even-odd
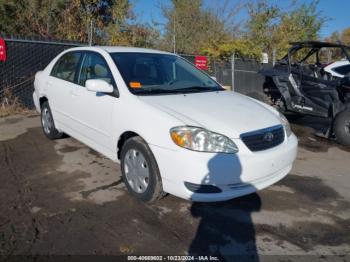
[[[112,94],[87,90],[85,83],[89,79],[101,79],[116,88],[106,60],[97,52],[86,51],[83,54],[78,73],[78,85],[73,94],[72,116],[77,120],[79,132],[84,139],[88,140],[88,144],[102,153],[110,153],[114,150],[112,114],[117,98]]]

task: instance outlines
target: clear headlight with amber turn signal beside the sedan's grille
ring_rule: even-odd
[[[236,144],[224,135],[200,127],[179,126],[170,129],[174,143],[194,151],[211,153],[237,153]]]

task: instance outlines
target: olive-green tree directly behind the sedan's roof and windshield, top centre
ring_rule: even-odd
[[[215,50],[233,35],[232,18],[238,8],[231,2],[216,8],[204,7],[202,0],[172,0],[170,6],[163,5],[166,24],[160,47],[173,51],[175,41],[177,53],[198,54]]]

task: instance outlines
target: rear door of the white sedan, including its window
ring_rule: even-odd
[[[76,86],[82,53],[78,51],[64,54],[54,65],[48,77],[46,93],[57,127],[70,127],[74,109],[72,94]]]

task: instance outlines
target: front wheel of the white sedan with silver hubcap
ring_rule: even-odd
[[[125,142],[120,162],[123,181],[133,197],[151,203],[164,196],[157,162],[141,137]]]

